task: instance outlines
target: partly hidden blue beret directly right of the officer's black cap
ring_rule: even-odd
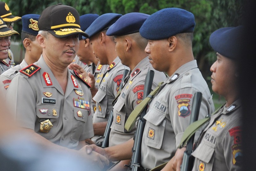
[[[98,17],[99,17],[98,14],[85,14],[85,15],[81,15],[79,17],[81,30],[85,31],[93,23],[93,21],[96,18],[98,18]],[[82,39],[82,35],[79,34],[79,40],[81,40],[81,39]]]

